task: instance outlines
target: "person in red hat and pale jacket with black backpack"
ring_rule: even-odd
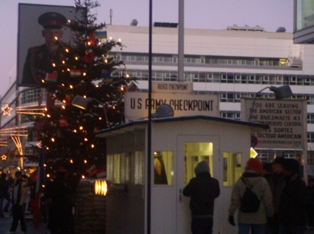
[[[228,222],[235,226],[234,214],[238,210],[239,234],[249,234],[250,230],[264,234],[267,220],[273,217],[273,196],[261,173],[261,161],[250,158],[245,172],[233,187]]]

